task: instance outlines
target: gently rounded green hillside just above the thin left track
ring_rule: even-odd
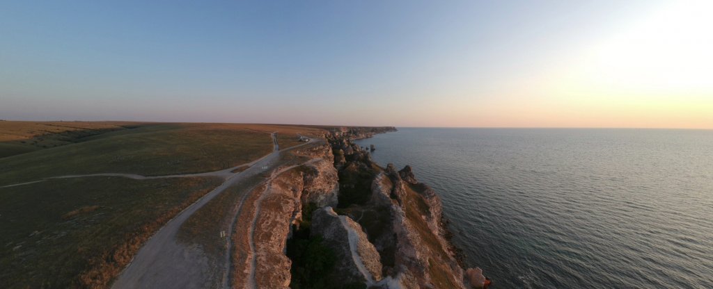
[[[0,159],[0,186],[66,174],[212,172],[272,151],[270,134],[237,125],[148,125]]]

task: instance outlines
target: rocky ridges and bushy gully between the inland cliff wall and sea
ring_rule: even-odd
[[[302,194],[301,211],[287,242],[291,288],[481,288],[476,273],[464,273],[446,238],[441,199],[419,182],[412,168],[380,167],[368,149],[352,140],[393,127],[333,127],[334,191]],[[322,147],[324,148],[324,147]],[[322,157],[322,159],[328,159]],[[303,189],[307,189],[308,179]],[[323,187],[332,187],[325,186]],[[476,278],[478,277],[478,278]],[[467,280],[466,280],[467,279]],[[471,284],[471,280],[473,283]]]

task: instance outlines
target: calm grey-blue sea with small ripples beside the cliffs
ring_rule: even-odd
[[[358,143],[438,191],[493,288],[713,288],[713,131],[401,128]]]

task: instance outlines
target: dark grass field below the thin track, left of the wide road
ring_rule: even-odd
[[[103,288],[220,182],[89,177],[0,189],[0,288]]]

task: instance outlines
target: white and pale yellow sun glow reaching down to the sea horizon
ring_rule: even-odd
[[[557,69],[545,73],[539,93],[555,99],[561,110],[622,125],[711,128],[710,11],[713,1],[662,6],[563,57]]]

